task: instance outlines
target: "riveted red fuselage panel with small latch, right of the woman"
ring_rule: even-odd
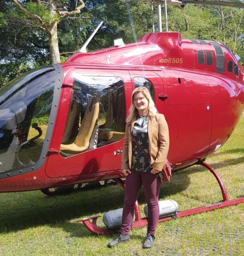
[[[164,73],[170,130],[168,158],[178,169],[196,162],[196,158],[204,158],[208,152],[212,128],[211,91],[204,74],[171,69]]]

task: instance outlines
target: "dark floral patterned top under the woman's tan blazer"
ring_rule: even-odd
[[[137,116],[137,120],[132,128],[132,136],[137,140],[140,146],[149,154],[148,142],[148,119],[145,116]],[[132,164],[131,169],[140,172],[146,172],[150,169],[150,159],[144,152],[132,141]]]

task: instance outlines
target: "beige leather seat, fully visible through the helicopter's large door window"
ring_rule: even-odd
[[[65,145],[61,144],[60,150],[68,150],[75,152],[84,152],[89,148],[92,132],[96,125],[99,113],[99,101],[96,98],[92,102],[92,108],[87,106],[81,127],[73,143]]]

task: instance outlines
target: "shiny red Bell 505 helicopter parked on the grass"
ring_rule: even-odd
[[[238,56],[216,41],[182,40],[179,32],[146,34],[128,45],[118,40],[89,53],[84,49],[0,89],[0,192],[51,195],[50,188],[108,180],[124,187],[120,162],[131,93],[146,86],[168,122],[172,172],[205,166],[223,196],[159,222],[244,202],[229,200],[220,177],[205,163],[227,141],[244,109]],[[41,120],[46,125],[39,125]],[[98,217],[81,221],[93,233],[112,232],[96,226]],[[133,227],[146,224],[136,203]]]

